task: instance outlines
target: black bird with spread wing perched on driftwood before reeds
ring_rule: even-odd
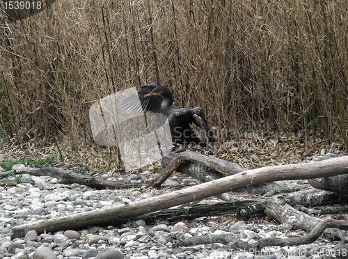
[[[136,110],[136,111],[152,111],[154,113],[163,113],[168,116],[169,127],[171,128],[172,141],[176,144],[182,144],[184,148],[190,143],[195,144],[199,148],[207,147],[206,143],[201,141],[196,132],[191,129],[191,124],[195,124],[200,129],[204,130],[209,143],[214,143],[212,130],[210,130],[202,107],[194,107],[193,109],[175,108],[173,106],[172,93],[166,86],[157,86],[156,84],[148,84],[143,86],[138,91],[137,96],[128,97],[119,104],[122,110]],[[134,105],[134,103],[137,103]]]

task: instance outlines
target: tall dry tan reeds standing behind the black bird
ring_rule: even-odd
[[[56,136],[81,150],[93,142],[93,102],[155,81],[177,107],[202,106],[217,129],[284,132],[290,145],[300,131],[304,148],[310,136],[339,136],[348,146],[347,0],[58,0],[0,21],[9,141]]]

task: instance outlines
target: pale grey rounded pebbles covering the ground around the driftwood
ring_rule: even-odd
[[[141,173],[141,176],[148,173]],[[27,177],[27,176],[26,176]],[[175,247],[175,241],[184,237],[233,233],[247,242],[265,237],[287,237],[290,230],[280,230],[276,223],[246,223],[237,221],[232,226],[208,221],[184,221],[165,224],[163,221],[136,226],[88,226],[81,230],[58,230],[56,233],[38,233],[31,230],[24,237],[11,240],[11,229],[26,223],[54,219],[81,212],[133,203],[151,198],[150,192],[132,190],[95,190],[84,185],[62,185],[49,176],[27,178],[33,182],[13,187],[0,187],[0,259],[224,259],[224,258],[311,258],[322,259],[319,251],[337,251],[341,243],[309,244],[296,247],[269,247],[261,254],[233,250],[222,244]],[[139,178],[134,178],[137,180]],[[173,177],[166,181],[175,187],[191,185],[196,180]],[[67,198],[68,197],[68,198]],[[117,216],[116,216],[117,217]],[[290,233],[289,233],[290,231]],[[294,233],[296,235],[296,233]],[[299,251],[306,249],[303,255]],[[331,249],[331,250],[330,250]],[[341,252],[346,249],[342,244]],[[347,252],[347,250],[346,250]],[[285,256],[285,257],[284,257]],[[338,256],[336,256],[338,258]]]

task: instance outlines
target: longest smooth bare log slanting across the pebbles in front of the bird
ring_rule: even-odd
[[[171,162],[171,164],[172,163],[173,162]],[[171,166],[168,167],[173,168]],[[226,171],[226,168],[221,168],[219,165],[216,165],[214,170]],[[257,168],[237,173],[236,175],[231,175],[226,178],[205,182],[201,185],[173,191],[169,194],[148,198],[143,201],[136,201],[116,207],[107,207],[91,212],[83,212],[71,216],[60,217],[58,219],[45,219],[22,226],[15,226],[13,227],[13,237],[22,237],[29,230],[36,230],[37,233],[43,233],[44,230],[48,232],[67,230],[110,222],[113,221],[113,219],[128,219],[137,217],[141,214],[189,203],[191,201],[200,201],[203,198],[223,194],[233,189],[260,185],[265,182],[320,178],[343,173],[348,173],[348,157],[338,157],[317,163]]]

